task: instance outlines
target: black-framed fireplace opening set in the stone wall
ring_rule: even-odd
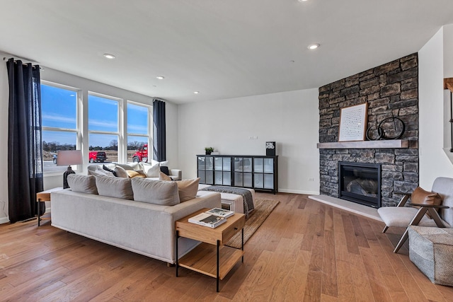
[[[338,197],[381,207],[381,165],[378,163],[338,163]]]

